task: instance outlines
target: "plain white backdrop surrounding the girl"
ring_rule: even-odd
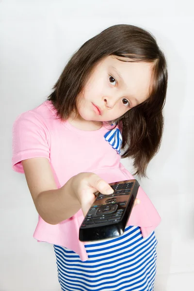
[[[52,245],[37,243],[24,175],[11,169],[16,116],[42,103],[71,54],[114,24],[152,32],[169,69],[162,146],[140,183],[162,223],[155,291],[193,290],[194,8],[192,1],[0,1],[0,291],[59,291]],[[131,171],[131,163],[122,160]]]

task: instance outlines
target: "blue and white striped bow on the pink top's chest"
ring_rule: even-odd
[[[104,135],[105,140],[117,151],[117,153],[121,154],[121,145],[122,145],[122,135],[119,129],[111,129]]]

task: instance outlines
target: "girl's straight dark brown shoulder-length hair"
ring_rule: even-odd
[[[73,110],[77,112],[77,97],[92,70],[99,61],[110,55],[115,55],[118,59],[125,57],[126,62],[153,63],[150,96],[114,120],[122,129],[124,153],[121,158],[131,157],[136,170],[133,175],[146,177],[147,164],[161,146],[162,109],[168,79],[164,54],[150,32],[133,25],[121,24],[111,26],[86,41],[65,66],[48,100],[52,101],[58,116],[67,120]]]

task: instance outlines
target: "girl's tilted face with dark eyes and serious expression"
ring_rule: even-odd
[[[122,62],[115,56],[104,58],[78,98],[80,118],[110,121],[144,102],[149,97],[152,67],[151,63]]]

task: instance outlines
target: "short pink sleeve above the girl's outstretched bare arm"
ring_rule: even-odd
[[[22,160],[49,159],[49,144],[49,130],[41,116],[30,111],[19,115],[13,125],[12,169],[24,173]]]

